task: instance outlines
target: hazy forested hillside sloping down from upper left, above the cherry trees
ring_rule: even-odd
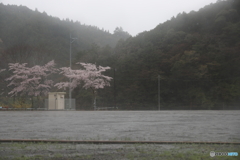
[[[65,66],[69,65],[70,34],[77,38],[72,45],[73,57],[77,51],[90,49],[92,45],[114,47],[118,40],[130,36],[119,28],[116,28],[115,34],[111,34],[96,26],[48,16],[37,9],[32,11],[24,6],[2,3],[0,21],[0,47],[4,49],[4,61],[10,58],[7,62],[39,64],[54,59],[59,66]],[[26,55],[28,53],[31,56]],[[21,55],[24,60],[20,57],[17,59],[16,55]],[[12,56],[14,58],[11,59]]]

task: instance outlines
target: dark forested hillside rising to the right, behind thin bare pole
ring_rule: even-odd
[[[106,60],[99,59],[113,68],[109,75],[115,79],[109,93],[100,91],[103,103],[116,100],[121,108],[157,109],[160,75],[162,109],[240,106],[239,1],[219,1],[198,12],[180,13],[119,42],[112,52]]]

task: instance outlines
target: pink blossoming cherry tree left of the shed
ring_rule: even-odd
[[[6,79],[8,87],[13,89],[8,93],[11,96],[46,96],[53,86],[53,81],[48,77],[58,70],[52,60],[44,66],[35,65],[27,67],[27,63],[9,63],[9,71],[13,75]],[[32,104],[33,105],[33,104]]]

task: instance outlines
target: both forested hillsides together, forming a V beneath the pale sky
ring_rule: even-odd
[[[110,66],[106,75],[113,77],[111,87],[97,92],[98,106],[158,109],[160,82],[161,109],[239,109],[238,0],[180,13],[130,38],[122,28],[110,34],[26,7],[0,4],[0,19],[1,68],[26,59],[69,65],[69,33],[78,38],[73,68],[76,62]],[[90,91],[79,86],[73,97],[78,109],[92,109]]]

